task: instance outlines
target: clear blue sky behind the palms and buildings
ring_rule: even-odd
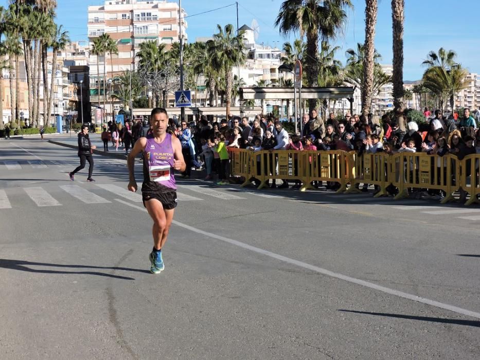
[[[0,0],[6,5],[7,0]],[[294,36],[285,38],[274,27],[274,22],[282,0],[238,0],[239,24],[250,26],[256,19],[260,26],[259,43],[281,46],[285,41],[293,41]],[[348,11],[348,21],[344,33],[339,35],[335,45],[341,50],[337,58],[345,62],[345,51],[363,42],[364,0],[352,0],[354,9]],[[379,16],[375,46],[382,55],[382,63],[392,63],[392,15],[390,0],[379,1]],[[101,5],[103,0],[58,0],[58,23],[69,32],[72,40],[86,40],[87,6]],[[235,4],[234,0],[182,0],[182,7],[189,16],[207,10]],[[440,47],[457,52],[457,62],[473,73],[480,73],[478,50],[480,31],[477,15],[480,14],[478,0],[405,0],[404,31],[404,80],[418,80],[424,67],[421,62],[430,50]],[[211,36],[216,32],[216,24],[232,23],[236,26],[235,5],[187,19],[189,41],[197,37]]]

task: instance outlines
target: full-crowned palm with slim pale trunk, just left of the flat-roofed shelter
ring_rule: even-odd
[[[219,32],[214,34],[214,40],[207,42],[207,48],[212,65],[219,68],[225,75],[225,102],[226,116],[228,117],[232,102],[232,69],[235,65],[240,66],[245,60],[243,31],[235,35],[232,24],[225,25],[223,29],[217,25],[217,29]]]

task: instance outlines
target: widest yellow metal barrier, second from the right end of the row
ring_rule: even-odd
[[[408,196],[408,188],[439,189],[446,192],[441,203],[454,200],[460,186],[460,161],[456,156],[397,153],[390,157],[390,179],[399,190],[395,199]]]

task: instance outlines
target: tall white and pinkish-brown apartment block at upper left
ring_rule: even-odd
[[[187,40],[188,26],[184,9],[179,4],[166,0],[105,0],[101,6],[88,6],[88,41],[92,48],[95,38],[108,33],[116,42],[118,54],[105,58],[90,53],[90,100],[103,101],[103,82],[108,82],[126,70],[135,70],[136,54],[140,44],[149,40],[167,45],[180,41],[179,18],[182,18],[182,37]],[[97,63],[99,74],[97,74]],[[104,68],[105,66],[105,68]],[[105,73],[105,75],[104,75]],[[98,85],[100,83],[100,93]],[[107,86],[108,88],[108,86]],[[107,92],[105,116],[120,110],[120,101],[113,102]],[[103,104],[101,105],[103,106]],[[99,119],[97,119],[97,123]]]

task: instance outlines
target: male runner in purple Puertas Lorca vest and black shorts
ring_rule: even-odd
[[[185,171],[180,140],[166,132],[168,128],[167,111],[156,107],[150,115],[152,134],[141,137],[128,155],[127,164],[130,176],[128,189],[137,191],[135,181],[135,156],[144,152],[144,182],[141,194],[144,206],[153,219],[153,250],[150,253],[150,272],[158,274],[164,268],[162,248],[167,241],[168,230],[176,207],[176,185],[173,169]]]

